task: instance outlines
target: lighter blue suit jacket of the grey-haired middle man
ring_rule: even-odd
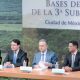
[[[34,67],[34,65],[37,65],[40,60],[41,60],[41,53],[37,52],[34,55],[34,59],[33,59],[33,62],[32,62],[32,67]],[[57,57],[57,55],[54,52],[47,51],[47,53],[46,53],[46,60],[45,61],[49,62],[49,63],[52,63],[53,64],[52,68],[54,68],[54,64],[58,61],[58,57]]]

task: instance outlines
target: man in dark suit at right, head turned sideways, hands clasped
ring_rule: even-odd
[[[78,42],[69,42],[69,54],[64,58],[65,71],[78,71],[80,70],[80,52],[78,52]]]

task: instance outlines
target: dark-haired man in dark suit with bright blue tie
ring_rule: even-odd
[[[24,60],[28,60],[27,53],[20,48],[20,41],[18,39],[13,39],[11,42],[11,50],[3,61],[4,66],[10,67],[13,65],[19,67],[23,65]]]

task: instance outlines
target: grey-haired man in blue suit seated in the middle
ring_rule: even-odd
[[[53,51],[49,51],[46,40],[41,39],[39,41],[39,52],[35,54],[33,59],[33,68],[40,68],[40,64],[43,64],[48,68],[53,68],[57,61],[57,55]]]

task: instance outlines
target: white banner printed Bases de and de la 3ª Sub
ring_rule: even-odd
[[[23,28],[80,30],[80,0],[22,0]]]

